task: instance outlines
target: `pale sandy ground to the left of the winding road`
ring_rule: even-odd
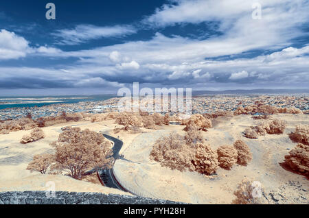
[[[82,130],[89,128],[96,132],[106,132],[113,128],[114,121],[91,123],[82,121],[65,123],[43,128],[45,138],[34,143],[23,145],[19,143],[23,135],[29,131],[10,132],[0,135],[0,191],[45,191],[54,182],[56,191],[100,192],[128,195],[117,189],[104,187],[95,180],[95,176],[88,176],[84,181],[74,180],[65,175],[41,175],[41,173],[26,170],[28,163],[36,154],[54,152],[49,143],[56,141],[61,128],[67,125],[78,126]],[[89,182],[86,182],[89,181]]]

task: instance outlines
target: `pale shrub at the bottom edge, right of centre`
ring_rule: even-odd
[[[259,183],[244,179],[233,193],[236,199],[232,204],[263,204],[262,193],[258,193],[263,191]]]

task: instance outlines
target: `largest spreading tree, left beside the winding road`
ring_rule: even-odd
[[[54,171],[69,171],[72,178],[81,180],[86,171],[101,167],[111,168],[113,152],[111,143],[102,134],[88,129],[68,127],[59,135]]]

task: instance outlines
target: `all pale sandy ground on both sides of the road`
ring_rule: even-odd
[[[72,125],[82,130],[89,128],[96,132],[105,132],[122,139],[124,146],[120,154],[124,154],[125,160],[115,162],[117,178],[145,197],[193,204],[230,204],[237,184],[242,178],[247,177],[259,181],[264,186],[268,203],[273,204],[275,203],[273,199],[278,199],[278,203],[309,204],[308,180],[302,175],[286,171],[279,165],[289,149],[296,145],[290,141],[287,134],[295,130],[295,125],[298,123],[308,125],[309,117],[303,114],[273,116],[273,118],[276,117],[288,122],[284,134],[268,134],[258,139],[242,136],[245,128],[258,123],[251,119],[251,116],[216,119],[214,128],[203,132],[207,143],[216,149],[220,145],[232,145],[236,139],[241,138],[249,145],[253,160],[247,167],[235,165],[229,171],[218,169],[217,175],[214,176],[189,171],[172,171],[150,160],[149,154],[157,138],[166,136],[172,131],[185,134],[184,127],[180,125],[164,126],[161,130],[143,129],[143,132],[139,134],[123,131],[114,134],[112,130],[117,124],[113,120],[99,123],[89,121],[65,123],[43,128],[46,137],[27,145],[22,145],[19,141],[24,134],[29,134],[30,131],[11,132],[8,135],[0,135],[0,191],[44,191],[48,189],[49,181],[52,181],[56,191],[128,194],[101,186],[98,181],[95,181],[95,177],[87,179],[91,182],[86,182],[73,180],[64,175],[41,175],[25,170],[34,155],[54,152],[49,143],[58,138],[62,127]]]

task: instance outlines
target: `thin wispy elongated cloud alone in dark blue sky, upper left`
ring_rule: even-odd
[[[136,29],[130,25],[115,25],[111,27],[98,27],[95,25],[77,25],[73,29],[60,29],[53,36],[60,38],[60,45],[78,45],[88,40],[119,37],[134,34]]]

